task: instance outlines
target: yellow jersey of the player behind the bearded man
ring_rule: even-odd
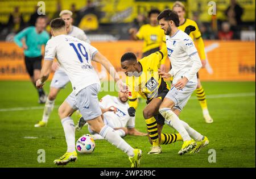
[[[193,41],[196,40],[197,43],[197,50],[199,51],[199,55],[201,57],[201,60],[205,60],[205,51],[204,51],[204,41],[201,37],[201,32],[197,26],[197,23],[194,20],[191,19],[185,19],[185,22],[181,24],[178,28],[181,31],[185,31],[185,28],[187,26],[195,26],[196,30],[191,32],[189,36],[192,38]]]

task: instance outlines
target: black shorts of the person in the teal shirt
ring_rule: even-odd
[[[34,70],[35,69],[41,69],[42,68],[42,55],[39,57],[27,57],[25,56],[25,64],[27,73],[32,77],[34,76]]]

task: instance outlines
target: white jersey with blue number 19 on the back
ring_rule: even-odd
[[[100,84],[91,61],[98,50],[85,41],[68,35],[48,40],[44,60],[58,60],[71,81],[75,95],[92,84]]]

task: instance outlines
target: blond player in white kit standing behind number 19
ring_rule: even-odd
[[[85,32],[76,26],[72,26],[73,18],[72,12],[69,10],[63,10],[60,12],[60,18],[65,20],[67,32],[69,36],[73,36],[79,40],[90,43],[90,40],[87,38]],[[57,94],[61,89],[63,89],[69,82],[69,78],[67,74],[64,72],[62,68],[59,67],[57,63],[53,63],[52,65],[55,73],[53,75],[49,95],[46,100],[46,105],[44,106],[43,117],[38,123],[35,124],[35,127],[44,127],[47,125],[49,115],[52,113],[54,108],[54,102],[57,97]]]

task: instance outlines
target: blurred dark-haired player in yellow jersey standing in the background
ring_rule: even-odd
[[[157,9],[152,9],[148,12],[149,23],[144,24],[139,28],[137,32],[136,28],[130,28],[129,34],[133,40],[143,40],[143,49],[142,57],[146,57],[151,53],[157,52],[160,50],[160,47],[163,44],[163,38],[165,37],[163,31],[160,29],[158,24],[158,14],[160,13]],[[160,65],[160,68],[164,68],[164,60]]]

